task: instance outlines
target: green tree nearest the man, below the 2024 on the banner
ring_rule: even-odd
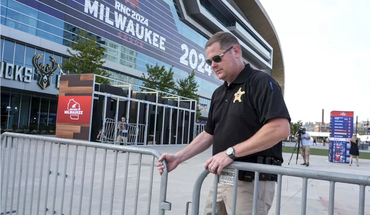
[[[186,98],[191,98],[196,100],[196,119],[201,115],[201,109],[199,108],[199,95],[196,94],[198,83],[195,81],[194,70],[185,79],[176,80],[178,87],[176,93],[178,96],[183,96]]]

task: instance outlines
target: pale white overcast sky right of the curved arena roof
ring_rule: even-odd
[[[260,0],[275,26],[292,121],[370,118],[370,0]]]

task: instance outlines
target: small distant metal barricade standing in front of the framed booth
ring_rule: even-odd
[[[125,123],[127,128],[121,129],[121,121],[111,118],[106,118],[103,123],[100,142],[117,144],[117,138],[120,133],[127,134],[127,145],[145,145],[146,142],[146,126],[144,124]],[[124,143],[124,142],[122,142]]]

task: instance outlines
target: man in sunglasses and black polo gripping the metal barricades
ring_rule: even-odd
[[[228,32],[218,32],[207,42],[206,62],[224,84],[212,95],[205,129],[184,149],[174,155],[164,153],[168,171],[178,164],[213,146],[213,156],[205,168],[213,174],[221,171],[233,160],[251,163],[281,165],[282,140],[290,135],[290,116],[279,84],[269,74],[244,65],[238,40]],[[252,214],[253,176],[239,171],[236,214]],[[258,188],[258,215],[267,215],[275,195],[276,176],[260,175]],[[216,211],[230,215],[233,186],[218,184]],[[212,212],[213,188],[209,192],[204,214]]]

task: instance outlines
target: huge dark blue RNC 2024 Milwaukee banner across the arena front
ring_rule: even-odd
[[[124,45],[215,84],[204,47],[174,17],[163,0],[17,0],[72,25]],[[41,2],[41,3],[40,3]],[[50,7],[48,7],[50,6]],[[51,8],[53,7],[53,8]],[[55,9],[54,9],[55,8]],[[191,34],[192,35],[192,34]]]

